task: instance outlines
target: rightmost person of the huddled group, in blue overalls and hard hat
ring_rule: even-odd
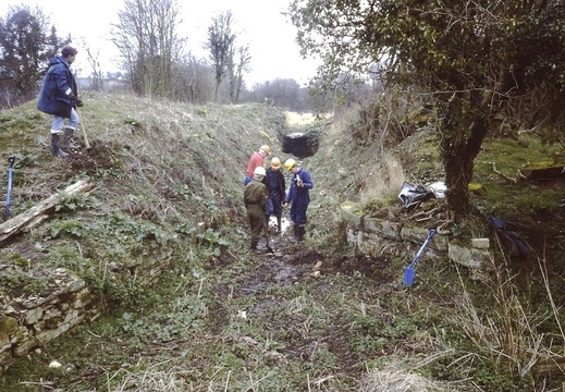
[[[291,205],[291,220],[294,223],[294,236],[291,241],[303,241],[306,234],[306,210],[310,204],[309,191],[314,187],[312,179],[294,159],[287,159],[284,169],[292,172],[291,187],[284,204],[285,207]]]

